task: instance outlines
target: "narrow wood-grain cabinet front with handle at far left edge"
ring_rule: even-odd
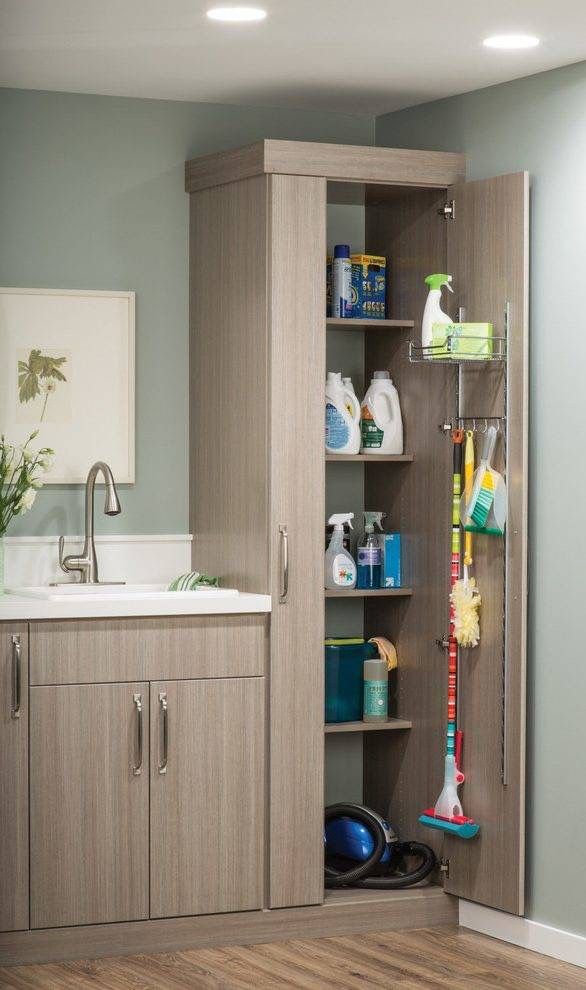
[[[28,928],[28,626],[0,626],[0,931]]]

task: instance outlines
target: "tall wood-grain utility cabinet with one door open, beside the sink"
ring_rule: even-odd
[[[283,141],[186,166],[194,566],[220,562],[227,583],[273,598],[268,907],[324,897],[325,341],[350,329],[325,317],[326,204],[358,192],[366,248],[388,258],[389,301],[386,321],[352,329],[364,332],[366,377],[388,368],[399,387],[411,455],[357,464],[368,507],[404,536],[409,585],[364,598],[365,635],[398,645],[402,720],[400,732],[363,731],[364,801],[434,846],[446,891],[523,910],[528,180],[464,174],[456,154]],[[454,276],[454,318],[493,323],[495,360],[418,351],[434,271]],[[443,774],[449,429],[476,418],[504,438],[509,516],[504,540],[478,540],[482,641],[460,662],[463,799],[481,825],[467,843],[418,816]]]

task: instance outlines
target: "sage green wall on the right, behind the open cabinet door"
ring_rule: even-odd
[[[376,143],[531,173],[527,913],[586,934],[586,62],[380,117]]]

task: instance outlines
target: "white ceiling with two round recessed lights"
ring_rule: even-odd
[[[219,3],[220,0],[217,0]],[[0,86],[380,114],[586,58],[584,0],[0,0]],[[538,48],[482,47],[536,34]]]

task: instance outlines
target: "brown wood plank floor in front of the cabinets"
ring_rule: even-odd
[[[2,990],[574,990],[586,970],[465,929],[381,932],[0,969]]]

